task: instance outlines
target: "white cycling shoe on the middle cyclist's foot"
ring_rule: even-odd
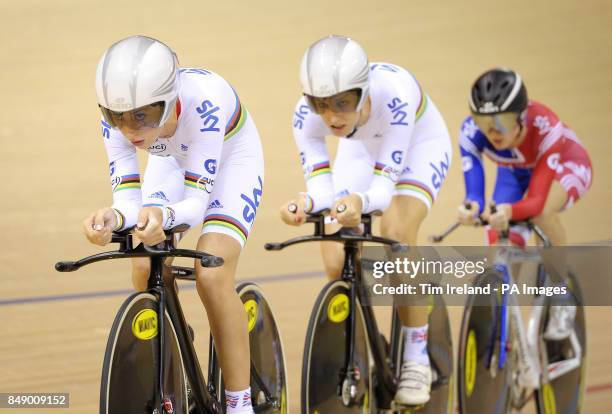
[[[400,371],[395,402],[402,405],[421,405],[429,401],[431,367],[415,361],[405,361]]]

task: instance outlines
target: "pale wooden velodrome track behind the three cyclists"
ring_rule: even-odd
[[[347,34],[372,61],[410,69],[444,115],[455,151],[471,81],[492,66],[519,70],[530,95],[568,122],[592,155],[594,185],[563,215],[571,242],[583,243],[612,235],[605,218],[612,207],[611,24],[608,0],[2,2],[0,392],[69,392],[70,412],[97,412],[106,336],[131,288],[129,265],[60,274],[53,264],[100,251],[85,242],[80,223],[111,197],[94,75],[112,42],[132,34],[160,38],[182,66],[228,79],[257,123],[265,191],[239,277],[258,280],[275,310],[297,413],[304,331],[324,283],[322,265],[316,246],[267,253],[263,244],[309,231],[278,218],[279,205],[303,187],[291,118],[305,48],[325,35]],[[462,186],[455,153],[421,243],[452,220]],[[462,229],[449,243],[481,240],[480,232]],[[182,298],[205,362],[203,308],[191,287]],[[455,337],[460,311],[451,310]],[[610,308],[588,309],[586,413],[612,410],[611,316]]]

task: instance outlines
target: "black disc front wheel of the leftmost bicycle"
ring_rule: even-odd
[[[187,414],[185,369],[168,313],[164,315],[163,401],[156,389],[159,374],[159,301],[135,293],[121,306],[108,337],[100,388],[100,414],[161,412],[162,404]]]

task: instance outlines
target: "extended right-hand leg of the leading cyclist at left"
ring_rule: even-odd
[[[264,181],[263,151],[250,117],[224,144],[217,168],[198,250],[223,257],[225,264],[202,268],[196,263],[196,286],[217,347],[227,413],[252,412],[247,315],[235,290],[238,259],[255,222]]]

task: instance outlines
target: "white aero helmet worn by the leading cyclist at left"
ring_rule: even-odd
[[[164,105],[157,126],[167,120],[178,97],[178,59],[159,40],[131,36],[113,44],[98,62],[96,94],[106,122],[109,114],[154,103]]]

